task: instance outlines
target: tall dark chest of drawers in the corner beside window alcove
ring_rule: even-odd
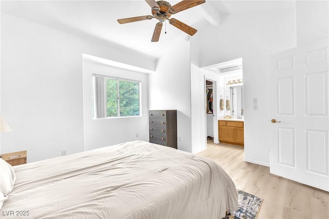
[[[177,149],[177,111],[149,111],[149,137],[151,143]]]

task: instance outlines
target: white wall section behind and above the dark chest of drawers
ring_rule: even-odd
[[[149,75],[149,109],[177,109],[178,149],[192,152],[190,41],[179,38]]]

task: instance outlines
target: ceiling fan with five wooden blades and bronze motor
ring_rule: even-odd
[[[193,27],[190,27],[177,19],[169,19],[169,17],[172,14],[176,14],[180,11],[184,11],[186,9],[192,8],[194,6],[200,5],[205,3],[206,1],[199,1],[199,0],[183,0],[179,3],[177,3],[174,6],[171,6],[168,2],[166,1],[157,1],[155,0],[145,0],[151,8],[152,8],[152,15],[145,15],[145,16],[138,16],[138,17],[128,17],[125,19],[118,19],[119,24],[126,24],[126,23],[131,23],[131,22],[136,22],[136,21],[144,21],[144,20],[151,20],[153,18],[159,20],[159,22],[155,25],[153,36],[152,36],[152,42],[158,42],[161,29],[162,29],[162,23],[165,22],[166,20],[169,21],[169,24],[177,27],[178,29],[186,32],[189,35],[194,35],[196,33],[196,29]]]

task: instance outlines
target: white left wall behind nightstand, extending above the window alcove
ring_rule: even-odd
[[[82,54],[155,70],[155,60],[1,14],[1,152],[28,162],[84,149]],[[121,132],[121,126],[117,132]]]

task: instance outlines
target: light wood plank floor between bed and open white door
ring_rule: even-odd
[[[257,219],[329,218],[329,193],[269,173],[269,168],[243,161],[243,147],[214,144],[198,153],[217,162],[237,189],[262,197]]]

